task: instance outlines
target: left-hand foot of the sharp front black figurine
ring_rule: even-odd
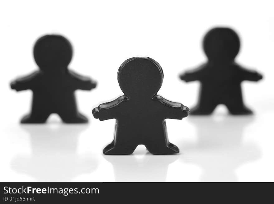
[[[134,152],[137,145],[126,144],[124,146],[114,145],[114,141],[112,141],[109,145],[107,145],[103,149],[103,153],[105,155],[130,155]]]

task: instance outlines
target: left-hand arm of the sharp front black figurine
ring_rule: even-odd
[[[92,114],[94,118],[99,118],[99,120],[109,120],[116,118],[120,113],[120,104],[127,100],[126,96],[120,96],[116,100],[111,102],[107,102],[104,104],[100,104],[97,108],[92,110]]]

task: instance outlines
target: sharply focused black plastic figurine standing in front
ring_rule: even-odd
[[[168,141],[165,119],[187,117],[189,109],[157,95],[163,82],[162,67],[151,58],[130,58],[120,66],[117,78],[125,95],[92,110],[94,118],[116,119],[114,140],[103,153],[129,155],[139,144],[152,154],[179,153]]]

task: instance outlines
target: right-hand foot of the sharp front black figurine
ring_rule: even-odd
[[[168,145],[166,145],[166,143],[155,143],[146,144],[145,146],[148,149],[148,151],[154,155],[178,154],[180,152],[179,148],[170,142],[168,143]]]

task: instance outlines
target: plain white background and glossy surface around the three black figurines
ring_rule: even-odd
[[[272,1],[1,1],[0,181],[274,181],[274,18]],[[206,58],[201,40],[214,26],[239,33],[236,61],[261,72],[244,82],[253,117],[232,117],[219,106],[211,117],[167,120],[179,155],[150,155],[138,146],[130,156],[105,156],[114,120],[91,110],[122,92],[117,70],[127,58],[148,56],[163,67],[159,94],[193,107],[198,82],[178,74]],[[45,34],[61,34],[74,48],[69,67],[98,82],[77,91],[87,125],[20,125],[30,111],[31,91],[16,93],[11,80],[37,69],[32,47]]]

